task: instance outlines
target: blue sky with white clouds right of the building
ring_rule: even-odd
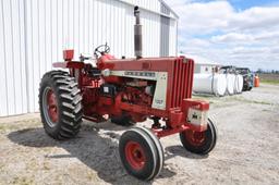
[[[279,0],[166,0],[179,50],[221,64],[279,70]]]

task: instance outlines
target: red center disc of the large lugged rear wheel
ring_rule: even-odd
[[[49,89],[46,95],[48,116],[52,123],[58,122],[57,97],[52,89]]]

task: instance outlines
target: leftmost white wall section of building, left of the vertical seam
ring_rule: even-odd
[[[24,1],[0,1],[0,116],[27,112]]]

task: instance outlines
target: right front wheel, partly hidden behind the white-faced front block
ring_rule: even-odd
[[[186,130],[180,133],[180,140],[186,150],[206,155],[214,149],[217,141],[217,130],[211,120],[208,119],[207,124],[207,130],[204,132]]]

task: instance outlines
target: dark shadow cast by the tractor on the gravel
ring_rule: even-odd
[[[105,123],[105,127],[110,124],[110,130],[100,134],[101,126],[85,124],[76,138],[60,141],[49,137],[43,127],[25,128],[12,132],[9,139],[17,145],[35,148],[59,147],[65,149],[69,155],[46,155],[45,158],[59,160],[65,158],[77,158],[88,168],[97,172],[97,175],[111,184],[153,184],[142,182],[129,175],[121,164],[118,151],[118,140],[120,134],[113,132],[111,123]],[[122,126],[117,126],[117,131]],[[126,130],[126,127],[122,127]],[[163,168],[157,178],[168,178],[175,175],[174,172]]]

